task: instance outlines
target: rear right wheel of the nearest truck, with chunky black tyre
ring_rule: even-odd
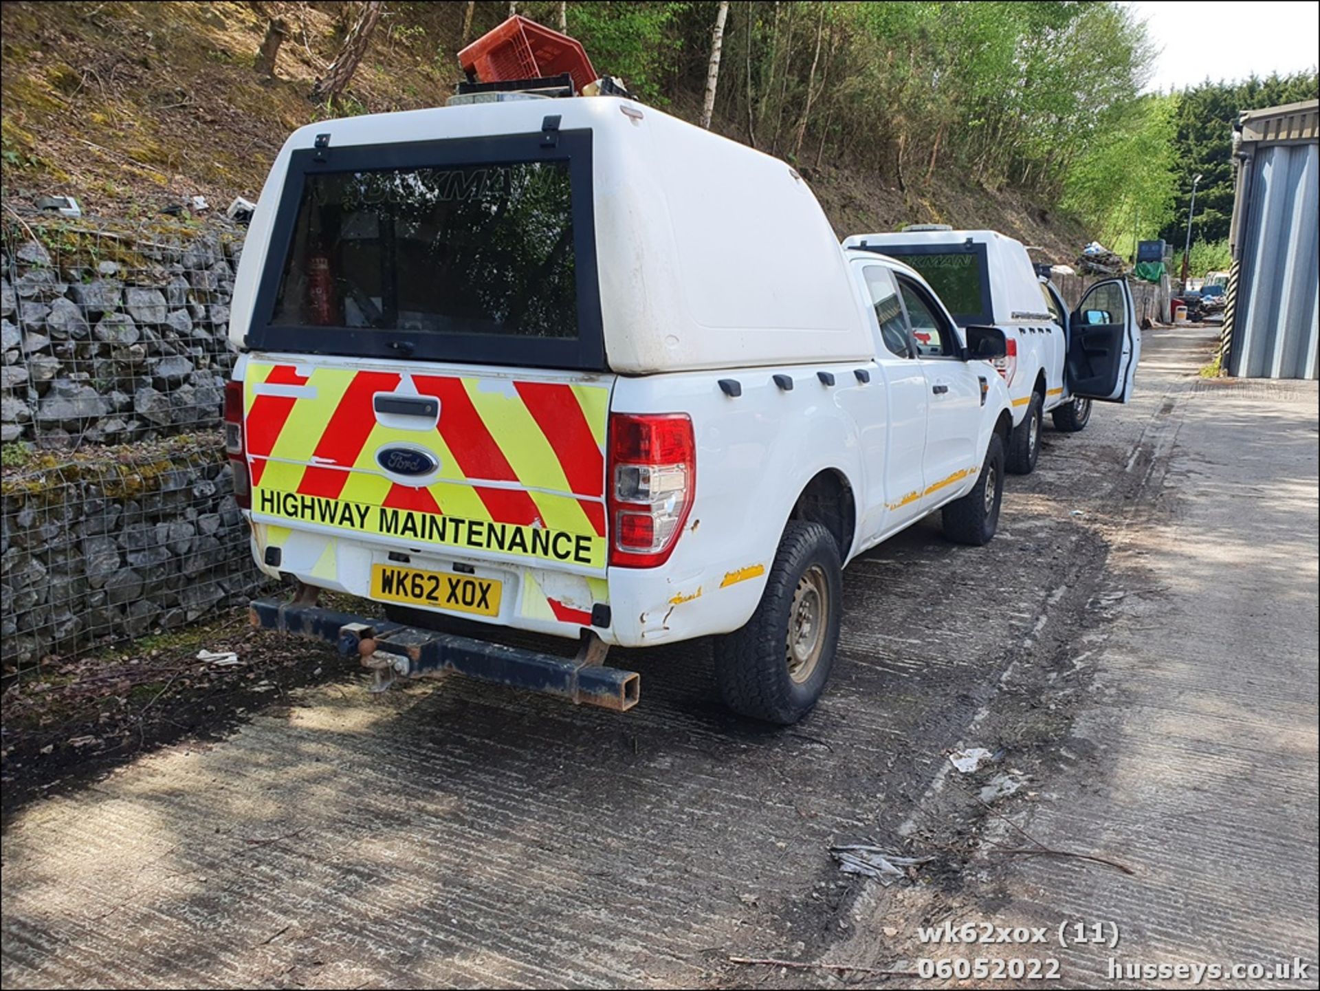
[[[715,681],[731,710],[788,726],[820,698],[842,611],[838,546],[818,523],[791,520],[747,625],[715,644]]]

